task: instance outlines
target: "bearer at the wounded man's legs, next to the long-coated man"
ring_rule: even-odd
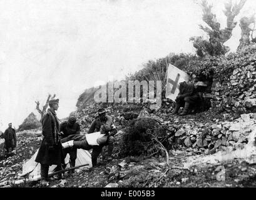
[[[69,116],[67,121],[64,121],[61,123],[61,136],[60,138],[66,138],[70,135],[76,135],[80,134],[80,126],[78,123],[76,123],[76,117],[75,116]],[[69,164],[70,167],[73,168],[76,165],[76,154],[77,154],[77,149],[75,148],[68,148],[64,149],[64,158],[66,158],[66,155],[69,154]],[[74,169],[71,171],[71,173],[74,173]]]

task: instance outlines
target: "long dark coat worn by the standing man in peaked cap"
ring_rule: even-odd
[[[36,156],[36,162],[51,166],[64,163],[63,150],[59,139],[59,121],[56,113],[48,109],[42,119],[43,141]]]

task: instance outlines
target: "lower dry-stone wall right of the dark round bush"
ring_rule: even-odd
[[[175,142],[212,154],[228,148],[243,149],[256,128],[256,113],[242,114],[235,121],[185,125],[175,133]]]

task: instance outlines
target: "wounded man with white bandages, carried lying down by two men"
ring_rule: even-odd
[[[116,134],[116,128],[115,125],[111,126],[111,133]],[[103,125],[101,128],[101,131],[96,133],[90,133],[90,134],[73,134],[69,135],[66,138],[61,139],[61,143],[63,146],[63,149],[66,148],[76,148],[76,149],[84,149],[84,150],[90,150],[93,149],[93,152],[91,154],[91,163],[93,167],[97,166],[97,157],[101,153],[101,149],[103,146],[108,145],[110,142],[110,138],[113,138],[113,136],[110,136],[109,131],[106,130],[105,126]],[[113,140],[113,139],[111,139]],[[111,141],[113,142],[113,141]]]

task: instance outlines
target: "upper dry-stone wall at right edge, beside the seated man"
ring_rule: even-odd
[[[252,111],[256,106],[256,62],[233,70],[232,75],[220,81],[213,80],[213,107],[226,111]]]

